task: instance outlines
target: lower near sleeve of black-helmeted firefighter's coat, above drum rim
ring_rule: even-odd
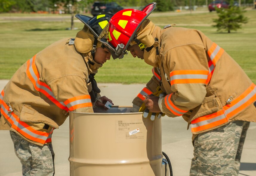
[[[83,77],[70,75],[48,83],[53,95],[70,111],[93,113],[87,82]]]

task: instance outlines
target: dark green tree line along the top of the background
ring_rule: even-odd
[[[65,13],[71,13],[72,8],[78,12],[90,12],[95,0],[0,0],[0,13],[7,12],[48,12],[55,13],[62,7]],[[152,0],[99,0],[102,2],[115,1],[122,7],[144,7]],[[177,6],[207,5],[213,0],[155,0],[156,11],[170,11]],[[231,0],[226,0],[230,2]],[[243,3],[253,3],[254,0],[242,0]]]

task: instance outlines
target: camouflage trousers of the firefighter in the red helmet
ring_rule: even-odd
[[[193,143],[190,176],[237,176],[249,124],[233,121],[198,134]]]

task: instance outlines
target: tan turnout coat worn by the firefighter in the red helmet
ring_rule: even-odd
[[[167,94],[161,101],[163,113],[194,124],[193,134],[234,120],[256,122],[255,85],[229,54],[198,30],[146,24],[137,38],[153,46],[144,50],[144,61],[159,69],[161,80],[153,76],[147,88],[154,92],[161,85]],[[136,97],[133,103],[140,106],[142,100]]]

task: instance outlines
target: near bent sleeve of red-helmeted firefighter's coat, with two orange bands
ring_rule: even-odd
[[[160,102],[162,111],[169,117],[182,116],[201,105],[206,95],[209,74],[206,50],[200,44],[179,46],[169,50],[164,59],[172,93]]]

